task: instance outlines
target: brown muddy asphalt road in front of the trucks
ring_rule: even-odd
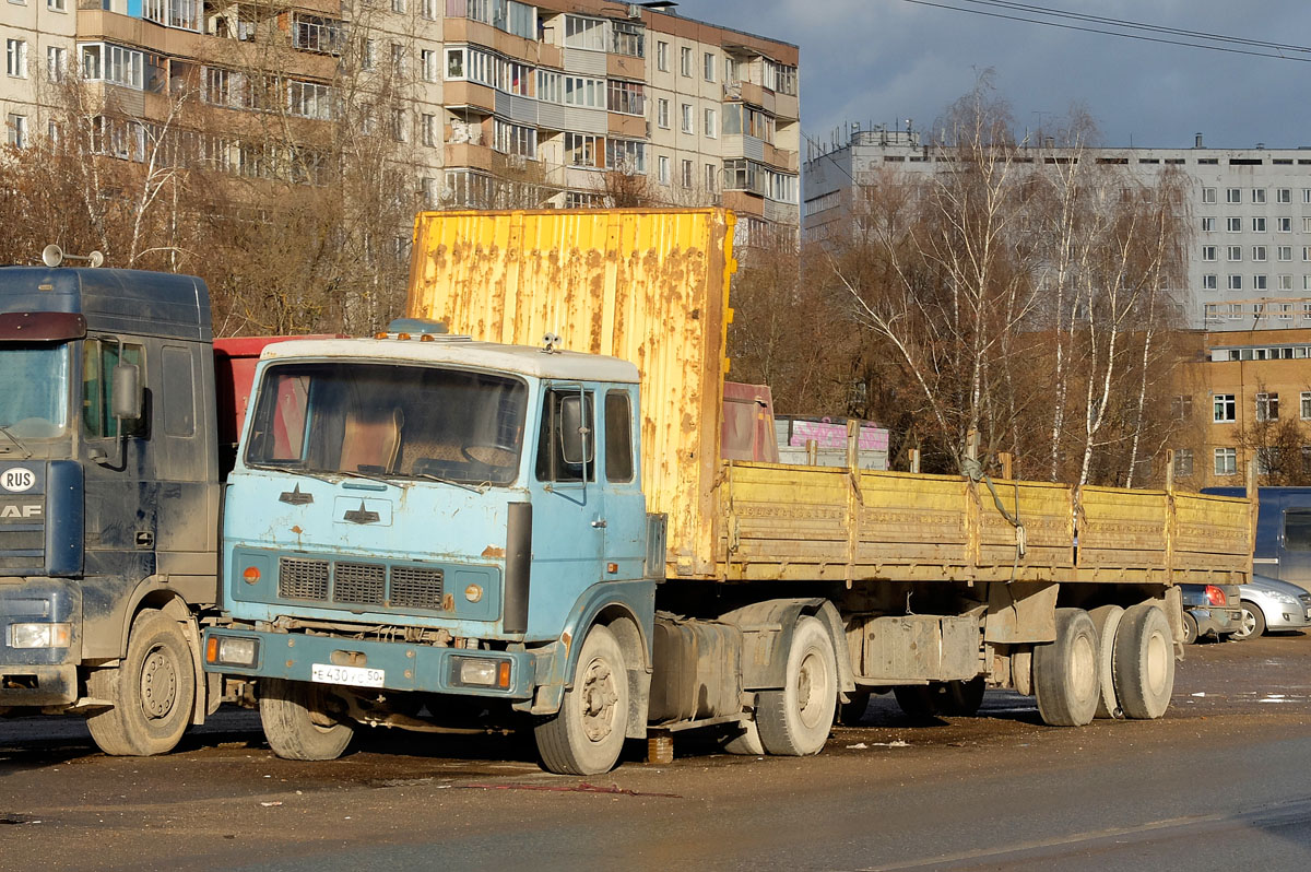
[[[168,757],[0,721],[0,869],[1311,868],[1311,636],[1194,645],[1160,721],[907,721],[876,698],[818,758],[683,742],[591,779],[513,736],[374,732],[275,758],[248,712]]]

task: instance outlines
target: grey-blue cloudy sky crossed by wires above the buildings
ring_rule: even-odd
[[[825,148],[848,122],[932,130],[991,68],[1019,132],[1071,106],[1096,119],[1101,146],[1311,147],[1311,3],[1307,0],[1029,0],[1053,9],[1285,46],[1291,59],[1163,45],[957,12],[1038,17],[996,0],[680,0],[687,18],[800,47],[801,129]],[[1047,17],[1046,20],[1051,20]],[[1062,18],[1065,24],[1110,29]],[[1188,39],[1135,30],[1162,39]],[[1276,49],[1217,42],[1232,50]],[[1298,51],[1298,49],[1302,49]],[[806,160],[802,143],[801,159]]]

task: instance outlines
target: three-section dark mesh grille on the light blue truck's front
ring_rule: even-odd
[[[391,582],[388,585],[388,581]],[[388,586],[391,595],[388,597]],[[281,557],[278,597],[350,606],[442,608],[442,570]]]

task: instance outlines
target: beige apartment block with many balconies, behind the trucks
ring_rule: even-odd
[[[800,226],[796,46],[674,3],[0,5],[17,147],[58,134],[55,85],[77,75],[114,106],[104,142],[126,160],[194,94],[215,111],[190,148],[236,174],[290,172],[253,132],[252,113],[277,113],[400,143],[431,208],[722,203],[742,241]]]

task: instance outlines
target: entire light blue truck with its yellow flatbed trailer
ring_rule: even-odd
[[[254,420],[229,493],[252,494],[225,535],[233,625],[208,632],[206,669],[267,684],[278,753],[338,754],[357,723],[442,729],[469,698],[534,716],[560,772],[608,768],[624,737],[665,755],[688,728],[732,751],[817,753],[835,716],[888,690],[965,713],[1015,687],[1062,725],[1164,712],[1175,585],[1248,577],[1249,504],[874,472],[855,427],[846,467],[724,459],[763,456],[724,445],[732,228],[722,210],[423,214],[409,315],[472,340],[265,355],[270,414],[290,384],[298,409],[315,391],[326,404],[313,367],[522,384],[486,412],[421,424],[406,408],[351,469],[258,447],[273,418]],[[464,460],[438,438],[451,418],[476,443]],[[772,438],[763,420],[733,429]],[[468,456],[493,433],[494,476]],[[312,504],[257,507],[287,494]],[[416,608],[397,566],[473,586]]]

